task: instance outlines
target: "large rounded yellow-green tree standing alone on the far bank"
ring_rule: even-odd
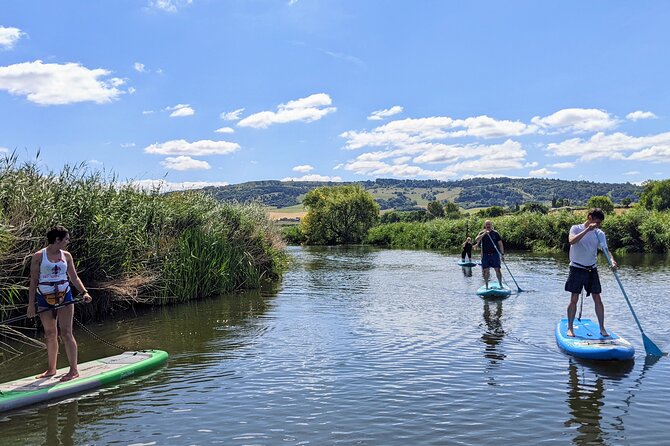
[[[360,243],[379,218],[379,205],[359,185],[317,187],[303,204],[300,229],[310,245]]]

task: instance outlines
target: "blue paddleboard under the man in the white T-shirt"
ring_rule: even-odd
[[[626,361],[635,356],[633,345],[616,333],[607,330],[610,335],[601,336],[598,322],[575,319],[572,326],[574,337],[567,335],[567,319],[561,319],[556,325],[556,344],[569,355],[601,361]]]

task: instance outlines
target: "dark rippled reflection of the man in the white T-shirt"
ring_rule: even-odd
[[[570,360],[568,367],[568,407],[571,418],[566,427],[577,426],[572,442],[576,445],[608,444],[602,426],[606,385],[628,377],[633,361]],[[615,431],[623,431],[623,419],[616,417]],[[610,431],[610,436],[612,431]]]

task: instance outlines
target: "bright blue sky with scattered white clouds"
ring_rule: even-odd
[[[4,1],[0,150],[178,189],[670,177],[666,1]]]

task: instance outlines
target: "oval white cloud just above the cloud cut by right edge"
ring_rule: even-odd
[[[543,118],[535,116],[531,122],[543,129],[561,132],[596,132],[617,125],[617,120],[609,113],[595,108],[565,108]]]

